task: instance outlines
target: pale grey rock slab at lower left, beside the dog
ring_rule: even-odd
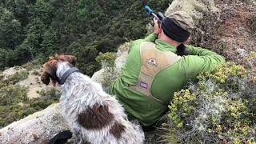
[[[47,143],[63,130],[69,130],[69,126],[60,114],[59,105],[54,104],[2,128],[0,143]]]

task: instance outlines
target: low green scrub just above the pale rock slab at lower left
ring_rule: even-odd
[[[0,89],[0,127],[7,126],[11,122],[18,121],[39,110],[45,109],[54,102],[58,102],[60,95],[56,90],[45,92],[50,98],[29,99],[26,96],[27,89],[23,86],[5,86]]]

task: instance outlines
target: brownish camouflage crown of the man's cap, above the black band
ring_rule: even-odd
[[[191,18],[185,11],[176,11],[166,17],[171,18],[178,26],[182,27],[183,30],[190,33],[194,28],[193,18]]]

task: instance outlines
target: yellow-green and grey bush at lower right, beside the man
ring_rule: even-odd
[[[227,62],[200,74],[169,108],[170,131],[181,142],[256,142],[255,69]]]

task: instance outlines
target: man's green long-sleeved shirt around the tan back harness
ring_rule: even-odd
[[[130,118],[137,119],[144,126],[156,122],[166,111],[167,106],[136,90],[129,89],[129,86],[135,85],[138,81],[141,70],[140,45],[142,42],[154,42],[158,50],[176,53],[174,46],[156,38],[156,34],[150,34],[144,39],[131,43],[126,64],[122,66],[122,75],[111,84],[109,89],[109,93],[116,95]],[[188,48],[191,55],[182,56],[178,62],[160,71],[154,77],[151,94],[155,98],[170,102],[174,91],[182,89],[188,80],[195,78],[202,71],[212,70],[214,66],[225,62],[221,55],[210,50],[194,46],[188,46]]]

